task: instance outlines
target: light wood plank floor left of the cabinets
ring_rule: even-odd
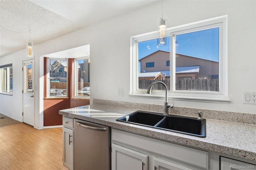
[[[0,170],[67,170],[62,166],[62,128],[1,127]]]

